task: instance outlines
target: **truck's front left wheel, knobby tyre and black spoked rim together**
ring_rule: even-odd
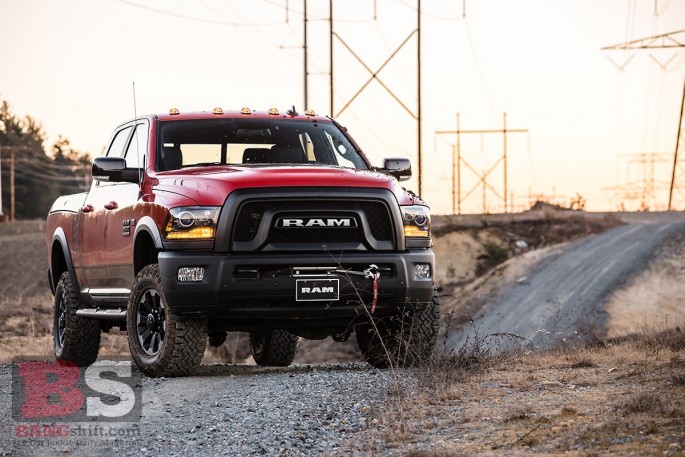
[[[136,276],[126,327],[131,356],[148,376],[183,376],[202,362],[207,320],[177,316],[171,311],[157,264],[144,267]]]

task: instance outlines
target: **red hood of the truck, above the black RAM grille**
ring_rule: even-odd
[[[211,166],[157,173],[157,191],[184,195],[200,205],[221,206],[238,189],[269,187],[375,188],[391,191],[400,205],[425,204],[391,176],[370,170],[322,166]],[[315,190],[312,190],[315,192]]]

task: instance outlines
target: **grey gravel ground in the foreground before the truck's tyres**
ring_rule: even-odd
[[[143,377],[140,422],[100,422],[101,430],[91,423],[90,433],[100,436],[27,439],[16,437],[11,366],[3,364],[0,455],[348,454],[372,407],[385,398],[391,375],[361,363],[273,369],[208,365],[187,378]],[[101,436],[109,433],[135,436],[116,441]]]

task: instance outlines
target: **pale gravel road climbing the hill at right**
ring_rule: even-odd
[[[479,338],[497,350],[587,337],[602,328],[610,293],[642,271],[667,239],[683,232],[683,216],[671,213],[578,240],[491,297],[473,325],[453,332],[447,345],[458,348]]]

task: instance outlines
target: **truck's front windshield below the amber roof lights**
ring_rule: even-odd
[[[368,168],[335,124],[288,119],[163,122],[157,164],[159,171],[222,164]]]

